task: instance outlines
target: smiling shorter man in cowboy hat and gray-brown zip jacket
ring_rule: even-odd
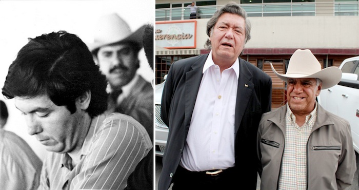
[[[272,65],[271,65],[272,66]],[[337,84],[342,71],[321,69],[308,49],[296,50],[286,74],[288,103],[264,113],[258,128],[261,189],[344,189],[356,170],[348,121],[324,110],[315,98]]]

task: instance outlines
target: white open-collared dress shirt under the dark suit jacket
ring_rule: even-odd
[[[234,166],[234,113],[238,59],[221,74],[210,52],[198,90],[181,165],[190,171]]]

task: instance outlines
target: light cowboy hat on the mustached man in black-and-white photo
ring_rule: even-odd
[[[91,52],[99,47],[115,43],[135,43],[139,51],[143,44],[142,39],[145,31],[145,25],[132,32],[129,25],[116,13],[102,16],[95,27],[94,42],[88,44]]]

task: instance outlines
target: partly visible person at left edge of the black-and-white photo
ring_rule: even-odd
[[[9,113],[0,102],[0,189],[37,189],[42,161],[21,137],[4,129]]]

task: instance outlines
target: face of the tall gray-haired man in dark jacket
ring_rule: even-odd
[[[215,64],[233,64],[241,54],[246,38],[246,22],[237,14],[224,13],[211,31],[212,58]]]

